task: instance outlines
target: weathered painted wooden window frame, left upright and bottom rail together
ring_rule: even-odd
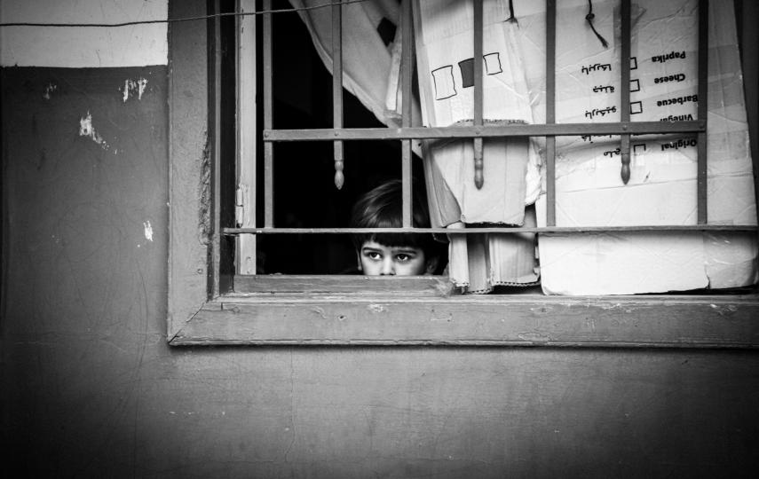
[[[208,10],[204,0],[170,1],[170,19]],[[234,237],[224,227],[233,205],[222,188],[231,167],[220,154],[217,28],[218,20],[170,25],[170,345],[759,347],[755,289],[464,296],[434,277],[254,276],[238,279],[248,282],[246,293],[234,293]],[[530,134],[524,128],[521,134]]]

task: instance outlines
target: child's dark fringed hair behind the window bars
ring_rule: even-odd
[[[415,185],[412,225],[415,228],[429,228],[430,214],[427,199]],[[353,205],[351,215],[353,228],[400,228],[403,226],[403,185],[400,180],[391,180],[364,193]],[[367,241],[388,247],[419,247],[426,255],[440,256],[445,248],[429,233],[359,233],[352,237],[356,249]]]

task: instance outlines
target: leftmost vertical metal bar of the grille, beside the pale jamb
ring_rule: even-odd
[[[272,0],[264,0],[265,12],[272,10]],[[264,13],[264,129],[273,126],[272,90],[272,14]],[[274,145],[264,142],[264,227],[274,227]]]

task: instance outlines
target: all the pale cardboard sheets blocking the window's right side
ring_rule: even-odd
[[[640,0],[633,5],[629,85],[620,84],[619,1],[597,0],[592,5],[598,35],[585,18],[585,0],[565,0],[557,6],[557,122],[619,122],[621,88],[630,89],[633,121],[696,119],[697,0]],[[510,14],[507,1],[486,0],[484,5],[485,117],[540,123],[545,120],[545,5],[515,0],[513,6],[518,27],[504,21]],[[467,75],[471,4],[417,1],[415,7],[424,124],[466,121],[473,104]],[[496,58],[499,68],[493,67]],[[729,0],[710,2],[708,77],[709,223],[755,224],[752,165]],[[627,185],[621,180],[619,141],[619,137],[558,139],[557,225],[695,224],[696,138],[633,137]],[[541,164],[535,152],[542,149],[543,140],[533,138],[529,145],[523,144],[521,153],[509,153],[518,151],[516,144],[494,145],[499,143],[491,142],[490,149],[486,143],[485,150],[486,185],[490,182],[491,188],[480,191],[473,186],[466,143],[428,148],[428,191],[434,194],[431,209],[439,211],[433,217],[436,225],[522,224],[524,217],[515,210],[534,200],[531,168]],[[494,166],[504,157],[524,167],[519,185],[513,181],[518,173],[511,167],[499,171]],[[522,191],[524,201],[520,201]],[[544,225],[544,196],[537,201],[537,211],[537,222]],[[486,250],[488,261],[468,257],[461,263],[469,273],[474,267],[476,275],[484,274],[486,285],[525,278],[516,268],[527,262],[515,261],[513,255],[500,255],[510,258],[505,267],[491,267],[491,256],[513,252],[513,246],[477,250]],[[753,233],[544,235],[539,250],[547,294],[635,294],[739,287],[757,280]],[[462,258],[458,251],[461,248],[456,250],[453,244],[452,256]],[[452,257],[452,269],[456,261]],[[472,266],[477,264],[481,266]],[[482,268],[485,271],[479,271]],[[455,281],[463,278],[457,274],[452,271]]]

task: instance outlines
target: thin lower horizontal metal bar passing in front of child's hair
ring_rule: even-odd
[[[364,234],[364,233],[600,233],[600,232],[755,232],[755,224],[671,224],[652,226],[554,226],[492,228],[225,228],[223,234]]]

